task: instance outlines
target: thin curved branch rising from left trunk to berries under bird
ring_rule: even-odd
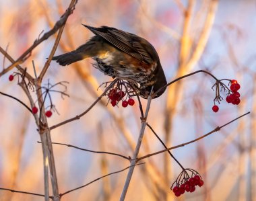
[[[81,118],[82,116],[84,116],[85,114],[87,114],[99,101],[100,99],[106,95],[106,92],[108,91],[108,89],[110,89],[111,87],[113,87],[113,85],[115,85],[115,83],[117,83],[118,79],[115,79],[108,87],[106,87],[106,89],[104,90],[104,92],[92,103],[92,105],[87,108],[84,112],[82,112],[81,114],[73,117],[73,118],[70,118],[68,120],[65,120],[63,122],[60,122],[59,124],[56,124],[54,126],[51,126],[50,127],[50,130],[54,129],[54,128],[57,128],[59,126],[62,126],[64,124],[67,124],[69,122],[73,122],[74,120],[79,120],[79,118]]]

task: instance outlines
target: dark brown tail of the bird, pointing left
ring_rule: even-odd
[[[84,59],[84,55],[80,52],[77,52],[77,50],[67,52],[59,56],[53,56],[53,60],[57,61],[57,63],[59,63],[62,66],[70,65],[71,63],[80,61],[82,59]]]

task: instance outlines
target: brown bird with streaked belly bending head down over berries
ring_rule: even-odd
[[[53,56],[54,61],[66,66],[92,58],[96,61],[96,69],[104,75],[128,81],[137,88],[137,94],[145,99],[152,90],[152,98],[164,93],[166,77],[158,53],[148,40],[117,28],[82,25],[95,36],[76,50]]]

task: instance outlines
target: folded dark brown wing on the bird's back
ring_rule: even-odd
[[[139,36],[107,26],[102,26],[101,28],[94,28],[85,24],[83,25],[94,34],[101,36],[102,38],[110,42],[110,44],[113,44],[113,46],[119,48],[120,50],[133,56],[134,58],[137,58],[139,61],[148,64],[152,63],[152,56],[148,53],[146,48],[141,45],[141,42],[139,42],[139,39],[141,39]],[[145,41],[146,40],[144,40],[143,42],[145,43]],[[148,44],[150,45],[150,47],[152,46],[150,43]]]

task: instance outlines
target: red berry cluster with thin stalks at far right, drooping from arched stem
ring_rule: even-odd
[[[238,82],[235,79],[230,80],[230,87],[228,89],[228,87],[226,87],[226,85],[224,85],[223,83],[220,82],[220,85],[222,88],[224,88],[224,91],[228,91],[228,95],[226,97],[226,102],[228,104],[233,104],[233,105],[238,105],[241,102],[240,99],[240,93],[238,92],[238,90],[240,89],[240,84],[238,84]],[[218,87],[217,87],[218,88]],[[216,89],[218,90],[218,89]],[[218,92],[219,94],[219,92]],[[218,112],[219,111],[219,107],[215,105],[215,101],[218,101],[220,103],[220,101],[223,98],[220,97],[220,95],[217,95],[216,98],[214,99],[214,106],[212,107],[212,111],[214,112]]]

